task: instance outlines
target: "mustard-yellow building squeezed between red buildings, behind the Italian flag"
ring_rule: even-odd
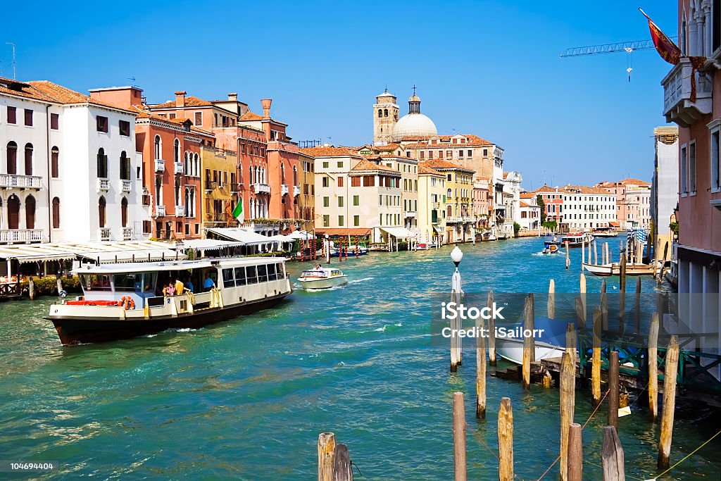
[[[234,226],[237,221],[232,212],[238,203],[239,191],[236,180],[238,156],[231,150],[205,146],[200,153],[200,191],[203,195],[200,215],[203,227]]]

